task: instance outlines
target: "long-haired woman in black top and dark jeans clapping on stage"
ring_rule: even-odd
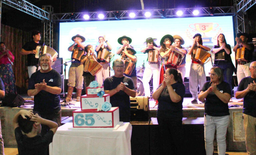
[[[212,53],[215,54],[214,66],[220,67],[223,70],[223,80],[230,85],[232,90],[232,75],[235,66],[231,60],[231,47],[227,44],[224,34],[219,34],[217,37],[217,45],[213,46]],[[232,99],[230,100],[232,101]]]

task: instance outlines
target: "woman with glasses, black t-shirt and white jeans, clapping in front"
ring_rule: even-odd
[[[228,102],[231,98],[230,86],[223,81],[223,72],[219,67],[212,67],[209,73],[211,81],[207,81],[199,96],[204,104],[204,139],[206,155],[213,154],[213,140],[216,130],[218,154],[225,155],[226,132],[229,123]]]

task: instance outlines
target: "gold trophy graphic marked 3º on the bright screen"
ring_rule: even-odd
[[[189,24],[189,28],[192,29],[193,32],[198,31],[202,32],[202,40],[204,43],[212,43],[212,37],[207,37],[205,35],[206,32],[216,31],[216,28],[219,26],[218,23],[194,23]]]

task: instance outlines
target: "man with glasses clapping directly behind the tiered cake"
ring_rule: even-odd
[[[113,62],[114,75],[104,80],[104,90],[110,94],[110,103],[112,107],[119,107],[119,120],[130,122],[130,96],[135,97],[133,81],[124,76],[124,62],[116,59]]]

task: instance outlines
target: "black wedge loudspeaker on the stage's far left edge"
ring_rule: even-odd
[[[24,104],[24,99],[19,94],[7,94],[2,103],[5,107],[19,107]]]

